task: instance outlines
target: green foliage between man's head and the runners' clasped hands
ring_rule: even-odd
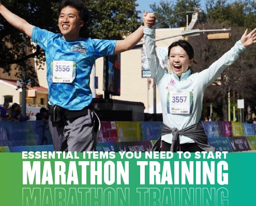
[[[88,36],[97,39],[123,39],[140,25],[135,0],[87,1],[91,12]]]

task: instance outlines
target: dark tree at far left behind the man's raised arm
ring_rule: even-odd
[[[52,31],[57,30],[53,6],[58,1],[2,1],[13,13],[27,20],[29,23]],[[19,7],[17,7],[19,5]],[[46,15],[47,13],[47,15]],[[19,30],[12,27],[0,16],[0,65],[4,73],[10,74],[11,69],[16,70],[16,77],[23,85],[38,85],[34,70],[33,57],[37,57],[38,65],[44,62],[44,53],[40,47],[31,44]],[[26,50],[26,51],[25,51]]]

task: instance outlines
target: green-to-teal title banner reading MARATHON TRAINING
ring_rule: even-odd
[[[0,153],[1,205],[255,205],[254,152]]]

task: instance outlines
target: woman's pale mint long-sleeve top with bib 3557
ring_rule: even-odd
[[[178,130],[198,123],[201,118],[205,89],[239,57],[245,47],[237,41],[227,53],[202,72],[191,74],[188,70],[179,78],[174,73],[166,73],[161,67],[155,50],[153,29],[144,27],[143,30],[149,68],[161,99],[163,123]],[[163,135],[162,140],[171,144],[172,134]],[[180,144],[194,142],[183,135],[180,135],[179,140]]]

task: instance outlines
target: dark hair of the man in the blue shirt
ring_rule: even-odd
[[[67,6],[77,9],[79,17],[86,24],[88,21],[89,12],[84,2],[80,0],[63,0],[58,6],[58,16],[61,14],[62,9]]]

